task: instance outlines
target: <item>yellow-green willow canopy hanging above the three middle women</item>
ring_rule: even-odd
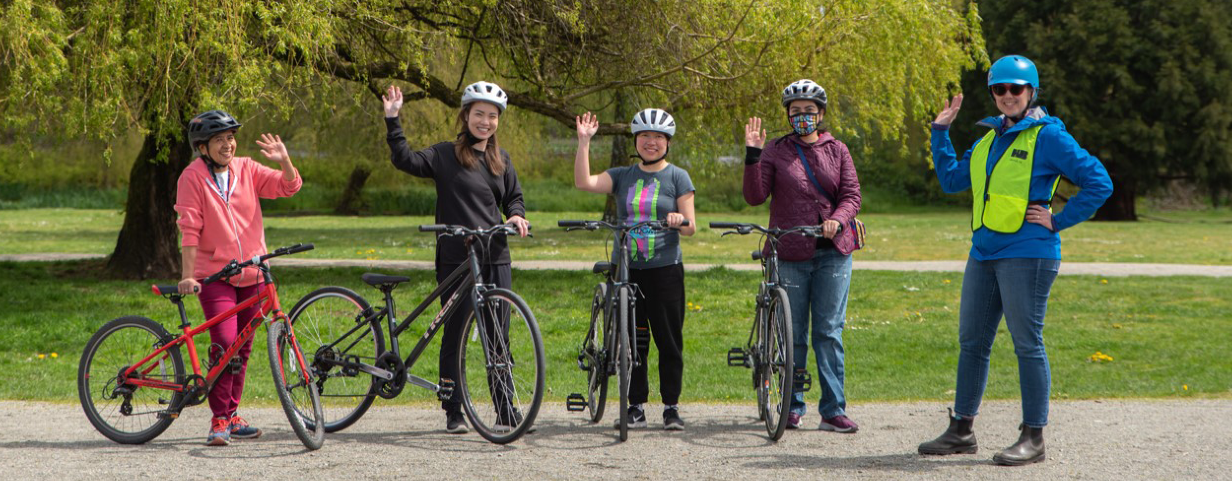
[[[821,6],[823,5],[823,6]],[[777,118],[777,93],[813,78],[832,92],[834,127],[893,141],[986,62],[973,4],[951,0],[501,0],[361,5],[334,55],[344,79],[411,84],[413,98],[457,106],[476,70],[510,105],[567,127],[602,111],[600,134],[628,135],[628,112],[663,107],[695,144],[738,141],[739,119]],[[425,36],[424,32],[436,33]],[[429,60],[445,52],[451,76]],[[627,105],[627,103],[632,105]],[[695,112],[685,114],[685,112]],[[615,113],[615,116],[614,116]],[[625,114],[620,114],[625,113]],[[614,139],[612,164],[627,149]]]

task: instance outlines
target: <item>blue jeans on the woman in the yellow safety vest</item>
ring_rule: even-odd
[[[1048,258],[967,260],[958,309],[958,380],[954,412],[976,416],[988,385],[988,357],[1002,315],[1018,356],[1023,423],[1048,424],[1052,374],[1044,351],[1044,315],[1061,261]]]

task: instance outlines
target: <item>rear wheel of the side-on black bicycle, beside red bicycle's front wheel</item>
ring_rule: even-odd
[[[326,363],[349,359],[372,365],[384,352],[379,319],[363,322],[366,310],[368,301],[342,287],[317,289],[291,309],[296,340],[317,380],[326,433],[360,421],[376,399],[377,378]]]

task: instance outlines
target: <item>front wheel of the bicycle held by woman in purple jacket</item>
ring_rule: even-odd
[[[770,439],[779,440],[787,428],[787,415],[791,412],[792,388],[792,338],[791,311],[787,309],[787,292],[775,288],[770,292],[770,304],[766,306],[765,322],[761,325],[760,365],[761,384],[758,397],[764,399],[766,433]]]

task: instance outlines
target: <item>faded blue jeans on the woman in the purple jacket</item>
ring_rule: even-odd
[[[808,342],[812,340],[819,378],[813,384],[822,391],[817,411],[823,418],[845,415],[843,326],[846,325],[848,290],[851,287],[851,256],[834,248],[819,248],[812,260],[780,262],[779,276],[786,284],[791,308],[796,369],[808,364]],[[791,412],[804,413],[803,392],[792,392]]]

